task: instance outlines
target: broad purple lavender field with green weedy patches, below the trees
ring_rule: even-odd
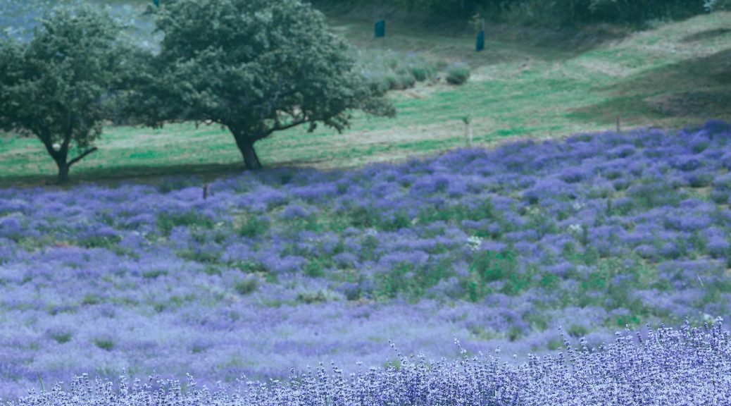
[[[403,379],[417,391],[415,379],[442,382],[440,396],[517,399],[520,389],[520,399],[538,399],[529,392],[553,380],[583,385],[583,375],[572,375],[572,383],[557,372],[564,366],[552,363],[563,356],[529,356],[556,356],[564,339],[586,347],[569,352],[577,370],[594,374],[586,382],[623,369],[621,357],[644,360],[637,368],[669,367],[670,357],[688,363],[697,379],[678,372],[668,377],[668,391],[693,382],[697,393],[721,396],[705,377],[728,377],[731,368],[728,335],[714,322],[731,307],[729,169],[731,127],[711,121],[681,131],[463,149],[359,170],[262,170],[213,182],[205,200],[201,182],[188,177],[3,189],[0,398],[71,383],[81,373],[114,382],[123,371],[145,382],[149,375],[184,382],[191,374],[199,388],[213,389],[236,386],[241,375],[286,379],[292,369],[335,361],[336,371],[363,375],[336,385],[322,383],[329,371],[312,372],[312,382],[295,380],[312,385],[300,392],[325,385],[366,396],[363,382],[377,381],[401,396],[393,385]],[[656,337],[664,330],[643,326],[677,327],[685,317],[691,326],[715,325],[694,334],[689,327],[665,331],[675,347],[653,347],[664,342]],[[599,348],[626,326],[643,328],[645,344],[625,338]],[[499,373],[490,366],[498,361],[478,356],[498,348],[516,358]],[[469,359],[451,364],[461,357]],[[535,368],[545,369],[545,381]],[[504,393],[458,384],[473,374]],[[523,384],[529,378],[534,386]],[[729,383],[721,386],[728,399]],[[138,389],[134,396],[151,396]],[[251,402],[290,404],[294,396],[266,390],[284,392]],[[436,402],[414,396],[401,404]],[[455,402],[471,404],[465,399]]]

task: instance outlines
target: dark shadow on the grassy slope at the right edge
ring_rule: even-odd
[[[594,91],[605,94],[605,101],[573,110],[570,118],[607,124],[619,116],[636,125],[729,121],[731,49],[652,69]]]

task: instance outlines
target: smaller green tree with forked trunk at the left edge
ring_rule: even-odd
[[[58,183],[96,151],[124,61],[118,26],[91,7],[53,9],[30,42],[0,41],[0,129],[35,135]]]

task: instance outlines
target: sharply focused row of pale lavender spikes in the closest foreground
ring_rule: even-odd
[[[317,406],[317,405],[729,405],[731,335],[713,327],[650,330],[637,339],[617,333],[616,342],[589,349],[564,340],[558,356],[531,356],[526,364],[499,356],[463,356],[459,361],[427,361],[398,352],[398,366],[359,369],[346,375],[333,364],[282,383],[258,383],[241,377],[233,391],[198,387],[189,375],[179,381],[135,380],[121,375],[116,384],[88,375],[51,391],[31,393],[9,406]],[[459,343],[457,343],[459,345]],[[464,353],[464,350],[463,350]]]

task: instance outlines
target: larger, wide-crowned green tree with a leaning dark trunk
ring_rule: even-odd
[[[394,114],[322,14],[300,0],[175,0],[154,12],[161,50],[129,107],[153,127],[221,124],[247,169],[261,168],[254,143],[274,132],[302,124],[340,132],[351,110]]]

